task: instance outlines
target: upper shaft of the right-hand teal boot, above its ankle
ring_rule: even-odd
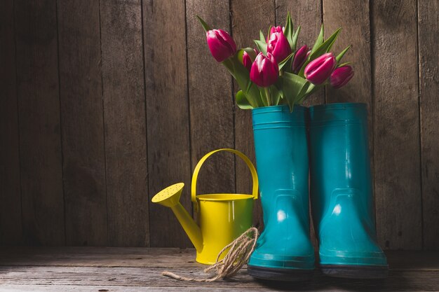
[[[309,112],[310,188],[316,225],[342,193],[356,195],[374,225],[366,104],[311,106]]]

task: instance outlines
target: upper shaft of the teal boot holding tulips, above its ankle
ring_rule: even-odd
[[[274,202],[276,194],[292,193],[301,207],[308,206],[308,109],[268,106],[252,110],[260,198]],[[268,209],[267,209],[268,211]],[[266,213],[266,207],[264,207]],[[268,214],[266,214],[268,215]],[[264,221],[266,221],[264,214]],[[307,216],[308,217],[308,216]]]

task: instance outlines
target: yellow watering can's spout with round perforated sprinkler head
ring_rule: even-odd
[[[201,229],[180,203],[183,187],[184,183],[175,183],[173,186],[168,186],[168,188],[157,193],[151,201],[165,207],[170,207],[173,210],[182,228],[187,233],[189,239],[191,239],[192,244],[194,244],[196,251],[201,252],[203,250]]]

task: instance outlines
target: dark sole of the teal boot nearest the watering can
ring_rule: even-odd
[[[313,277],[314,270],[276,269],[273,267],[247,266],[250,276],[269,281],[307,281]]]

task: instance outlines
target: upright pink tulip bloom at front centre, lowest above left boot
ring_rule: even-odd
[[[279,77],[278,63],[271,53],[259,53],[250,69],[250,80],[256,85],[266,88],[273,85]]]

